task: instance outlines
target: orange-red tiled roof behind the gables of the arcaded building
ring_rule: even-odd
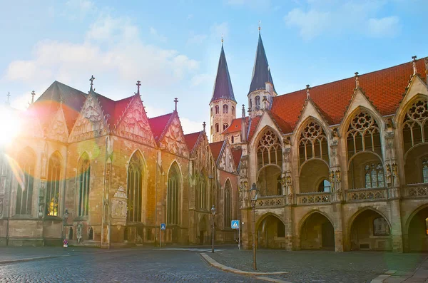
[[[427,73],[424,66],[424,58],[417,60],[416,65],[417,71],[422,79],[425,80]],[[412,74],[412,62],[404,63],[361,75],[360,87],[382,115],[390,115],[397,110]],[[350,104],[354,90],[355,78],[345,78],[340,81],[312,87],[310,89],[310,98],[326,120],[330,120],[330,123],[334,125],[340,123],[345,115],[345,110]],[[271,111],[289,123],[294,129],[305,100],[305,90],[277,96],[273,98]],[[253,127],[253,125],[251,126]]]

